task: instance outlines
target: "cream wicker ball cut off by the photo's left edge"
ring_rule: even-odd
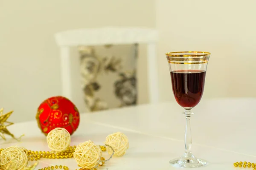
[[[25,148],[11,146],[7,147],[0,154],[0,164],[3,170],[10,170],[15,167],[17,170],[21,170],[28,164],[28,157],[25,153]]]

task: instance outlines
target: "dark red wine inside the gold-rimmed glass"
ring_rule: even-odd
[[[183,108],[193,108],[201,100],[204,92],[206,71],[171,71],[172,91],[177,103]]]

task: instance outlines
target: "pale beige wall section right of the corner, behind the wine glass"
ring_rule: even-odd
[[[160,99],[174,100],[165,53],[209,51],[204,99],[256,97],[255,0],[157,0]]]

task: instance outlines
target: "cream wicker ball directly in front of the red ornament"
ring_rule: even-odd
[[[70,146],[70,140],[70,133],[61,127],[57,127],[47,134],[48,147],[55,152],[66,150]]]

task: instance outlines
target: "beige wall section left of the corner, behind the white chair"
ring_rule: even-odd
[[[146,3],[146,5],[145,5]],[[38,105],[60,95],[58,31],[102,26],[155,27],[154,0],[54,0],[0,2],[0,107],[14,110],[11,121],[34,120]],[[145,54],[142,49],[142,53]],[[139,77],[146,77],[145,56]],[[72,59],[72,65],[78,58]],[[84,111],[79,71],[75,103]],[[139,82],[140,103],[147,102],[146,81]]]

